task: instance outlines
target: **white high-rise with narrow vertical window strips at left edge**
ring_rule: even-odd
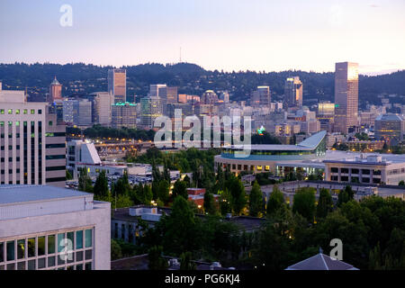
[[[23,91],[0,92],[0,184],[65,185],[66,127],[55,119]]]

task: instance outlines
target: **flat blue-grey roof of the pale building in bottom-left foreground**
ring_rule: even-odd
[[[19,202],[38,202],[55,199],[91,196],[79,192],[48,185],[0,185],[0,205]]]

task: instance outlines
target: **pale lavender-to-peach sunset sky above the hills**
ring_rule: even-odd
[[[59,20],[72,7],[72,26]],[[0,63],[405,69],[404,0],[1,0]]]

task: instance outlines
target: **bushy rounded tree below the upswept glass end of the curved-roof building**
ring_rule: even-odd
[[[315,189],[311,187],[300,188],[293,198],[293,212],[301,214],[310,222],[315,216]]]

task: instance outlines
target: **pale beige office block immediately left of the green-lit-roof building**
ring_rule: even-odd
[[[93,122],[103,126],[110,126],[114,96],[108,92],[95,92],[90,94],[90,96],[92,101]]]

